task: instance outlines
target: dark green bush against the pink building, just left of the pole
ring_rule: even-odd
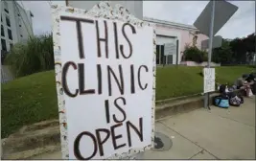
[[[186,46],[184,57],[185,60],[196,61],[198,63],[207,61],[207,53],[200,51],[197,46]]]

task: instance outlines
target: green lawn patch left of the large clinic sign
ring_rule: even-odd
[[[58,118],[54,71],[2,84],[2,138],[20,127]]]

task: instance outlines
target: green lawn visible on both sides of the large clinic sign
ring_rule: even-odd
[[[251,67],[217,67],[221,83],[233,83]],[[159,67],[156,77],[156,100],[202,92],[201,67]],[[20,127],[57,119],[58,101],[55,73],[47,71],[2,84],[2,138]]]

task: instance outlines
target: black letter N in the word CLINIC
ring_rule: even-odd
[[[114,77],[114,79],[115,79],[115,81],[118,85],[118,88],[119,88],[119,91],[120,91],[121,95],[124,95],[125,87],[124,87],[124,77],[123,77],[122,66],[118,65],[118,69],[119,69],[120,81],[118,81],[118,79],[117,79],[114,71],[112,70],[112,68],[109,65],[107,65],[107,80],[108,80],[108,95],[109,96],[112,96],[111,75]]]

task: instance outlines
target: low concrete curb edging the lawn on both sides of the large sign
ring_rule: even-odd
[[[213,97],[210,95],[210,104]],[[203,106],[203,96],[190,97],[185,100],[172,99],[158,102],[155,109],[155,120],[177,113],[189,112]],[[6,139],[2,139],[1,159],[28,159],[45,152],[60,150],[60,133],[58,120],[44,121],[32,126],[25,126]]]

